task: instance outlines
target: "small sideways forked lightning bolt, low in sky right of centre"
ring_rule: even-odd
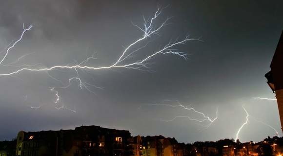
[[[178,102],[178,101],[177,101]],[[200,114],[202,116],[202,119],[197,119],[197,118],[192,118],[190,116],[184,116],[184,115],[178,115],[178,116],[175,116],[174,118],[172,119],[169,119],[169,120],[164,120],[164,119],[161,119],[161,121],[164,121],[164,122],[170,122],[170,121],[174,121],[175,119],[177,118],[187,118],[191,121],[196,121],[196,122],[204,122],[204,121],[208,121],[209,124],[208,125],[205,125],[205,129],[207,129],[215,120],[217,120],[218,118],[218,108],[216,109],[216,117],[214,118],[211,118],[207,115],[205,115],[203,112],[201,111],[197,111],[196,109],[192,108],[192,107],[187,107],[187,106],[184,106],[182,105],[180,102],[178,102],[179,105],[169,105],[169,104],[151,104],[151,105],[148,105],[148,106],[168,106],[168,107],[172,107],[172,108],[182,108],[184,110],[188,110],[188,111],[193,111],[197,114]]]

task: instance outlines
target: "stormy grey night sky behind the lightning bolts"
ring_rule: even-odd
[[[283,30],[282,0],[1,0],[0,59],[5,47],[19,39],[22,23],[33,27],[9,51],[0,74],[18,70],[4,65],[25,54],[13,66],[64,66],[93,53],[96,59],[89,66],[109,66],[126,46],[142,37],[132,23],[142,26],[142,16],[151,18],[158,6],[167,7],[154,25],[172,18],[159,34],[137,44],[141,47],[150,41],[133,59],[186,35],[201,39],[174,47],[186,52],[187,60],[166,54],[148,61],[151,71],[78,70],[84,82],[102,88],[90,86],[91,91],[81,89],[76,80],[63,89],[76,75],[68,69],[51,70],[51,76],[46,71],[0,76],[0,140],[12,139],[21,130],[97,125],[129,130],[132,135],[162,134],[179,142],[216,141],[236,137],[245,122],[243,105],[252,117],[239,134],[240,141],[274,136],[274,130],[262,122],[282,135],[276,101],[253,98],[275,98],[264,74],[270,70]],[[52,87],[60,95],[57,104]],[[210,118],[218,108],[218,118],[207,129],[203,125],[208,121],[182,117],[163,121],[185,115],[202,119],[193,111],[169,106],[178,102]]]

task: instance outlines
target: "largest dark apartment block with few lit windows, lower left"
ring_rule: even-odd
[[[133,143],[129,131],[99,126],[60,131],[20,131],[16,156],[133,156]]]

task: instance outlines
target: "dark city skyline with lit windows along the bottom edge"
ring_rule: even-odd
[[[133,136],[127,130],[80,126],[70,130],[24,132],[0,141],[0,156],[281,156],[283,138],[241,143],[233,139],[180,143],[174,137]]]

